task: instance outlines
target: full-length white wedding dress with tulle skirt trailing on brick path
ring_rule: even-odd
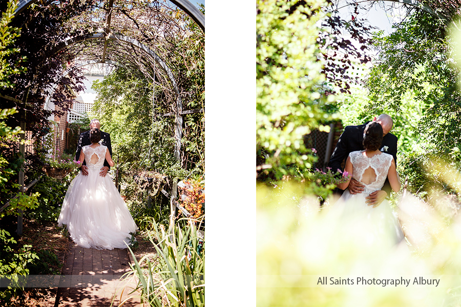
[[[138,228],[109,176],[99,176],[107,147],[83,146],[88,176],[81,172],[66,192],[58,226],[66,225],[72,240],[84,248],[126,248]],[[97,162],[91,163],[92,157]]]

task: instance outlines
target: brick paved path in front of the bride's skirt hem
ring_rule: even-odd
[[[73,242],[70,247],[54,307],[110,306],[114,295],[113,306],[118,306],[128,296],[137,294],[128,295],[136,286],[134,278],[119,280],[130,271],[127,249],[95,250],[79,247]],[[141,306],[140,299],[131,299],[123,306]]]

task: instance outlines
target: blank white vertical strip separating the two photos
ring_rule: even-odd
[[[206,305],[256,305],[256,3],[205,2]]]

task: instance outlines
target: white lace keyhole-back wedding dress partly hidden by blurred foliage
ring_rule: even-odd
[[[363,231],[368,234],[370,241],[386,237],[392,244],[397,244],[404,239],[404,234],[399,221],[393,214],[389,203],[384,200],[378,207],[368,206],[365,198],[374,191],[381,190],[387,178],[387,173],[393,157],[387,153],[379,153],[368,158],[364,151],[352,151],[349,153],[350,162],[353,166],[352,178],[359,181],[365,186],[364,191],[358,194],[351,194],[346,189],[338,200],[337,205],[342,207],[343,214],[346,218],[364,218],[365,221],[360,223],[366,225]],[[371,167],[374,170],[376,179],[364,184],[362,177],[366,169]]]

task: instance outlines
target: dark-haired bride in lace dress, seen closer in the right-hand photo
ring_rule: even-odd
[[[400,191],[400,180],[397,175],[395,161],[388,153],[381,152],[379,147],[383,139],[383,128],[379,123],[370,122],[364,131],[363,145],[365,150],[352,151],[346,160],[345,174],[351,174],[347,182],[339,184],[340,189],[345,189],[337,202],[342,206],[345,215],[349,217],[363,217],[371,224],[368,231],[370,240],[383,235],[390,237],[394,244],[401,242],[404,238],[400,223],[393,215],[392,209],[387,201],[380,205],[370,206],[365,198],[372,192],[381,190],[386,178],[394,192]],[[354,178],[365,186],[364,191],[358,194],[351,194],[347,186],[350,179]]]

